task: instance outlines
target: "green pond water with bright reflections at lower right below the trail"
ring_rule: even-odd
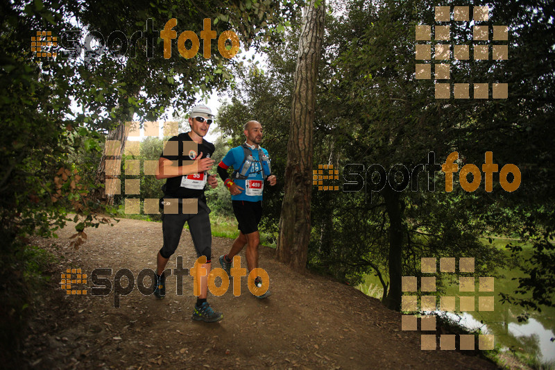
[[[481,328],[482,331],[495,335],[495,346],[535,355],[542,362],[555,363],[555,308],[542,308],[542,312],[529,312],[527,322],[518,322],[517,317],[524,310],[518,305],[502,304],[499,301],[501,298],[499,293],[513,293],[518,286],[518,282],[511,279],[520,276],[522,273],[518,269],[499,269],[497,272],[502,277],[495,278],[495,291],[493,293],[475,292],[476,296],[495,296],[493,311],[446,312],[445,314],[456,321],[460,320],[463,326],[471,329]],[[444,280],[444,283],[445,293],[442,294],[444,296],[471,294],[459,293],[457,280]],[[379,299],[382,298],[382,285],[376,276],[366,276],[364,283],[359,285],[358,288],[365,294]],[[437,313],[440,314],[441,312],[437,311]]]

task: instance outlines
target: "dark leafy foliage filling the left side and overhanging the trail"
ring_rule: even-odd
[[[99,211],[79,183],[83,164],[71,162],[71,153],[99,150],[104,137],[98,133],[119,122],[160,119],[165,108],[187,109],[197,92],[228,84],[239,58],[221,56],[217,40],[209,43],[211,58],[203,57],[205,42],[197,56],[184,58],[177,35],[199,35],[208,18],[216,37],[234,31],[241,47],[252,46],[267,37],[275,40],[276,28],[294,8],[277,0],[0,1],[0,278],[25,274],[27,235],[52,235],[68,211],[83,213],[74,219],[85,219],[76,226],[82,232]],[[173,18],[177,35],[170,58],[164,58],[164,42],[155,30]],[[56,42],[46,48],[46,41]],[[37,42],[44,42],[41,53]],[[75,54],[67,58],[62,50],[69,49]],[[81,112],[75,112],[75,103]],[[124,136],[121,132],[118,140]],[[6,317],[0,347],[10,349],[0,353],[13,353],[14,333],[22,333],[25,312],[31,312],[25,310],[31,303],[26,283],[16,280],[0,286],[6,303],[0,307]]]

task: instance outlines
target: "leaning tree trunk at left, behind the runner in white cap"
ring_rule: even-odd
[[[107,175],[108,173],[114,173],[114,166],[119,167],[118,170],[121,168],[121,158],[123,158],[123,149],[125,149],[127,137],[129,135],[130,126],[126,125],[125,122],[119,122],[114,130],[108,133],[108,137],[106,137],[106,147],[104,149],[104,153],[102,154],[102,158],[99,163],[98,169],[96,169],[96,177],[94,179],[95,190],[92,193],[92,200],[96,202],[100,202],[106,205],[112,205],[114,203],[114,195],[113,194],[106,194],[105,187],[98,187],[98,185],[105,185],[107,178],[118,178],[117,175]],[[108,141],[114,140],[119,142],[119,150],[116,151],[117,155],[110,155],[112,153],[107,153],[106,148],[108,148]],[[106,168],[106,160],[117,160],[117,162],[110,162],[111,167]],[[118,171],[119,172],[119,171]]]

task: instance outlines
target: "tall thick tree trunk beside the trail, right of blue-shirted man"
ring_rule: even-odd
[[[291,103],[291,126],[287,143],[285,194],[280,217],[278,260],[304,271],[310,241],[312,189],[312,129],[316,106],[316,77],[324,37],[325,1],[305,7]]]

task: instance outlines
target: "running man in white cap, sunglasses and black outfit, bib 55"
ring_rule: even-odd
[[[172,202],[178,203],[177,213],[162,212],[162,233],[164,244],[157,254],[156,285],[154,295],[162,299],[166,294],[164,268],[170,256],[176,251],[183,226],[189,224],[189,232],[193,239],[197,257],[205,256],[206,263],[201,265],[206,274],[200,276],[200,295],[193,310],[192,319],[196,321],[216,322],[223,319],[221,312],[212,310],[206,301],[208,285],[207,276],[210,274],[212,260],[212,230],[210,229],[210,208],[206,204],[204,194],[205,185],[212,188],[218,186],[216,176],[207,173],[212,169],[214,160],[210,158],[214,153],[214,144],[203,137],[207,134],[210,124],[214,120],[212,110],[204,105],[191,109],[189,124],[191,131],[171,137],[164,147],[164,152],[158,160],[158,174],[156,178],[166,178],[162,187],[164,197],[161,202],[164,208]],[[177,144],[175,143],[177,142]],[[191,199],[197,202],[197,212],[189,213]],[[167,208],[169,210],[169,208]]]

